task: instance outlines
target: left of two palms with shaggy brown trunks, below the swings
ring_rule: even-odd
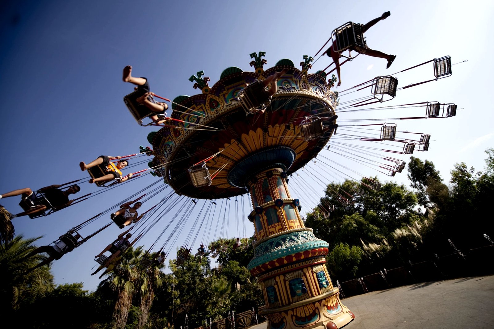
[[[142,247],[129,247],[122,256],[120,264],[115,266],[109,273],[109,277],[99,284],[99,286],[103,286],[109,282],[110,287],[118,292],[113,312],[113,328],[115,329],[124,328],[127,323],[128,311],[132,306],[132,297],[135,292],[135,283],[139,278],[138,266],[142,254]]]

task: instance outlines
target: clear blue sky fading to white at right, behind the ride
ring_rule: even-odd
[[[394,100],[377,106],[424,101],[457,104],[456,117],[400,121],[396,122],[398,131],[431,135],[429,151],[414,152],[413,156],[432,161],[446,182],[455,163],[465,162],[482,169],[484,151],[493,146],[494,135],[493,92],[489,82],[493,73],[493,62],[489,59],[493,50],[493,38],[489,37],[494,16],[492,1],[20,0],[0,4],[0,193],[86,179],[79,162],[87,163],[101,154],[133,154],[138,152],[139,145],[149,145],[146,137],[153,129],[139,126],[122,100],[132,90],[130,84],[122,82],[125,65],[133,66],[135,76],[147,77],[151,89],[159,95],[170,99],[181,94],[193,95],[200,91],[193,89],[188,78],[198,71],[204,70],[211,80],[209,85],[213,85],[229,66],[251,70],[249,54],[258,51],[266,52],[265,68],[282,58],[298,64],[303,55],[315,55],[334,28],[347,21],[366,23],[387,10],[391,16],[372,27],[366,37],[370,48],[397,55],[395,62],[386,70],[384,59],[360,55],[342,66],[342,85],[335,90],[342,91],[376,76],[446,55],[452,57],[453,64],[468,60],[454,65],[451,77],[399,90]],[[321,57],[309,72],[324,69],[329,63],[328,57]],[[396,77],[398,87],[433,79],[432,64]],[[341,102],[368,94],[364,90],[342,95]],[[341,112],[340,128],[334,136],[339,139],[334,138],[334,143],[347,143],[338,136],[351,131],[345,125],[352,123],[345,120],[377,118],[386,122],[389,118],[425,113],[424,108],[408,111]],[[398,144],[359,145],[389,149],[389,145],[396,148]],[[292,195],[305,202],[302,212],[317,204],[324,184],[342,181],[344,177],[378,175],[383,181],[408,184],[406,169],[388,177],[357,164],[354,156],[330,151],[325,150],[322,155],[332,159],[341,172],[311,164],[304,171],[299,170],[300,177],[293,175],[291,179],[296,183],[291,184],[290,180]],[[409,158],[379,154],[405,161]],[[146,159],[131,161],[135,164],[141,160]],[[131,169],[146,167],[144,163]],[[317,173],[321,180],[314,181],[307,171]],[[155,180],[151,175],[131,180],[47,217],[16,218],[16,233],[25,237],[44,236],[39,243],[47,245],[71,227]],[[102,191],[87,182],[82,182],[81,187],[79,195]],[[152,198],[141,209],[148,209],[163,197],[164,194]],[[246,219],[250,211],[247,196],[243,200],[244,212],[233,201],[229,207],[225,202],[230,213],[208,219],[215,219],[210,226],[216,236],[233,238],[244,226],[248,236],[253,233]],[[2,199],[1,204],[16,213],[21,211],[19,201],[20,197],[14,197]],[[221,202],[217,201],[218,206]],[[172,209],[165,215],[139,245],[151,247],[175,212]],[[229,220],[228,227],[223,217]],[[105,215],[82,233],[88,235],[108,222]],[[204,233],[204,226],[195,245],[205,235],[209,237],[206,240],[213,238],[212,232]],[[183,241],[192,241],[187,238],[192,224],[188,222],[185,227],[176,235],[175,244],[170,242],[168,246],[173,252]],[[197,227],[193,236],[196,231]],[[87,289],[94,289],[99,280],[90,276],[92,267],[97,265],[93,256],[119,233],[113,225],[53,262],[55,282],[84,282]],[[165,232],[157,245],[163,245],[169,235]]]

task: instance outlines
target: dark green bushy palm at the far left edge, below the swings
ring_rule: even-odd
[[[21,302],[34,301],[54,288],[53,275],[48,266],[27,271],[46,259],[40,254],[25,259],[37,247],[33,243],[40,239],[24,239],[22,235],[0,245],[0,314],[8,314]]]

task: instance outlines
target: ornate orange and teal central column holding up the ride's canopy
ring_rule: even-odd
[[[341,328],[355,316],[341,304],[339,289],[329,280],[328,243],[304,226],[300,202],[288,191],[285,170],[294,152],[289,148],[274,152],[285,164],[263,170],[248,181],[254,208],[248,218],[257,241],[247,268],[262,285],[266,302],[262,314],[268,319],[268,329]],[[280,157],[282,153],[285,156]]]

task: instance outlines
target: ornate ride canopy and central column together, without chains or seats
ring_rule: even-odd
[[[341,328],[355,316],[329,278],[328,243],[304,226],[303,205],[288,190],[288,176],[314,159],[335,131],[334,122],[324,128],[307,118],[334,116],[338,95],[325,72],[307,74],[311,58],[304,56],[301,70],[282,59],[264,71],[263,55],[250,55],[254,72],[227,68],[212,87],[203,72],[191,77],[202,94],[173,100],[176,125],[149,134],[155,155],[149,165],[191,198],[250,193],[256,243],[248,269],[262,285],[269,329]],[[244,89],[283,69],[288,72],[272,82],[278,91],[267,101]]]

